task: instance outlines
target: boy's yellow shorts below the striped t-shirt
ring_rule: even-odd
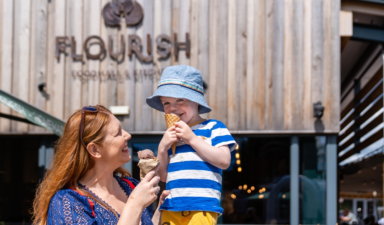
[[[161,210],[161,225],[216,225],[217,212]]]

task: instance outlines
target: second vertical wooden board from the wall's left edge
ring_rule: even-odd
[[[13,77],[12,93],[24,101],[28,101],[30,35],[31,35],[31,1],[15,1],[15,29],[13,39]],[[13,113],[18,115],[18,113]],[[12,121],[12,131],[27,131],[28,124]]]

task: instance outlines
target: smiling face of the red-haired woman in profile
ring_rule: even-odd
[[[129,139],[131,139],[131,134],[121,128],[121,123],[116,117],[110,115],[104,146],[101,148],[103,161],[113,163],[118,167],[129,162],[131,160],[127,146]]]

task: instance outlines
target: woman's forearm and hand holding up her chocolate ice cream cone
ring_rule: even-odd
[[[157,190],[160,187],[156,185],[160,177],[154,176],[159,169],[159,166],[155,167],[144,179],[135,187],[132,193],[128,196],[127,203],[125,204],[118,224],[139,224],[142,211],[145,207],[150,205],[157,199]],[[155,186],[156,187],[153,187]]]

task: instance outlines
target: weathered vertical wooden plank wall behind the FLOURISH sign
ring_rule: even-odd
[[[208,84],[205,99],[213,111],[203,116],[234,133],[339,132],[340,0],[137,0],[142,23],[125,26],[122,19],[120,28],[104,24],[101,11],[108,2],[0,1],[0,88],[62,119],[84,105],[128,105],[129,116],[119,116],[124,129],[156,133],[166,128],[163,113],[145,99],[157,88],[157,71],[191,65]],[[159,60],[156,36],[173,33],[179,42],[189,33],[190,56],[180,50],[178,60],[173,54]],[[151,35],[153,63],[127,56],[129,34],[141,37],[144,55]],[[83,45],[91,35],[107,46],[103,60],[86,58]],[[114,52],[124,38],[117,60],[108,53],[110,35]],[[66,54],[58,59],[56,36],[68,36]],[[71,58],[72,36],[82,60]],[[99,45],[89,50],[98,53]],[[325,110],[315,127],[317,101]],[[0,111],[17,115],[3,105]],[[2,118],[0,132],[44,130]]]

